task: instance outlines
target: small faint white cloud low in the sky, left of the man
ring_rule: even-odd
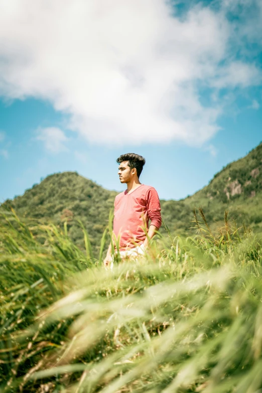
[[[38,129],[37,134],[36,139],[44,142],[46,150],[50,153],[60,153],[68,150],[65,143],[69,141],[69,138],[65,136],[60,128],[40,128]]]

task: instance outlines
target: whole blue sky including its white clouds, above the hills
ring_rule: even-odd
[[[260,2],[27,3],[0,16],[0,201],[63,171],[121,191],[126,152],[180,199],[262,141]]]

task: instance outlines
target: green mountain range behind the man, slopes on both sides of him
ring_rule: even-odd
[[[61,226],[67,221],[68,232],[78,245],[83,237],[77,222],[80,219],[92,245],[98,247],[116,194],[76,172],[64,172],[48,176],[4,205],[12,205],[26,219],[53,221]],[[194,195],[180,201],[161,200],[161,206],[164,222],[173,234],[192,231],[192,211],[199,206],[213,228],[222,225],[228,209],[231,219],[239,223],[244,220],[255,230],[262,230],[262,143],[244,158],[228,164]]]

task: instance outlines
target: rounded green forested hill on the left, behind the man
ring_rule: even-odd
[[[12,206],[31,224],[52,221],[62,228],[66,222],[71,239],[83,247],[82,228],[78,222],[81,219],[94,252],[98,253],[116,195],[117,192],[105,190],[76,172],[65,172],[48,176],[26,190],[23,196],[7,200],[3,207]]]

